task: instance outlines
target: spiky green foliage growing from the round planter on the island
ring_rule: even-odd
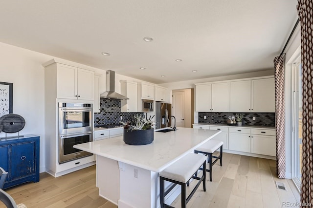
[[[134,115],[134,117],[127,121],[127,122],[122,122],[120,121],[120,123],[124,124],[124,129],[127,129],[127,131],[131,130],[149,130],[149,129],[153,129],[154,125],[156,124],[155,121],[153,120],[155,116],[149,116],[147,113],[145,115]]]

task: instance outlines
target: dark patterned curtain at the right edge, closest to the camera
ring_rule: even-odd
[[[313,207],[313,1],[298,0],[302,65],[302,208]]]

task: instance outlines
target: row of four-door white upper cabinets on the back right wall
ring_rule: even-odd
[[[275,112],[273,76],[195,85],[196,112]]]

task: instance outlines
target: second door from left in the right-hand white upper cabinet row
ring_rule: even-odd
[[[212,84],[212,112],[229,112],[229,82]]]

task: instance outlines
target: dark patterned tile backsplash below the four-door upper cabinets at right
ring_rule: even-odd
[[[229,116],[239,113],[199,112],[199,123],[227,124]],[[275,113],[241,113],[244,114],[243,125],[246,126],[275,126]],[[206,119],[204,119],[204,115]],[[255,117],[255,121],[252,118]]]

